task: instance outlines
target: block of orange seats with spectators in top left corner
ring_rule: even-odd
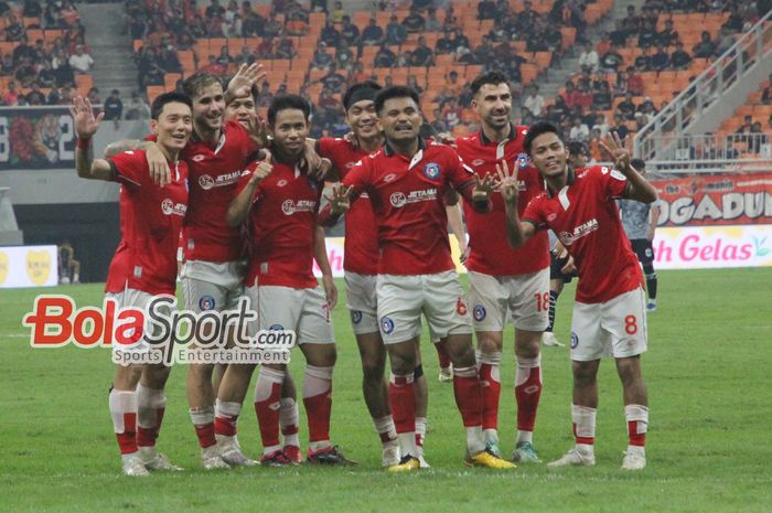
[[[75,6],[7,6],[0,15],[0,106],[69,104],[73,94],[88,95],[93,60]]]

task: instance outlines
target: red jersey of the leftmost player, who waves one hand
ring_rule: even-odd
[[[170,162],[172,182],[159,188],[150,179],[143,150],[109,160],[120,183],[120,244],[107,274],[107,292],[127,287],[150,295],[174,293],[176,248],[187,210],[187,164]]]

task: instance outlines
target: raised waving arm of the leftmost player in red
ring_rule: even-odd
[[[112,168],[110,163],[104,159],[94,159],[94,148],[92,146],[92,137],[99,129],[101,118],[105,113],[99,113],[94,116],[94,109],[88,98],[76,96],[73,99],[73,105],[69,106],[75,121],[75,135],[77,143],[75,145],[75,169],[77,175],[89,180],[111,180]]]

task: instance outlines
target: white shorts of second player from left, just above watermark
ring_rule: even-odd
[[[195,312],[224,311],[238,308],[244,296],[242,261],[185,260],[180,271],[185,309]]]

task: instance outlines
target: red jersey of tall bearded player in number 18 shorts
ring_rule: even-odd
[[[474,172],[483,178],[496,175],[496,163],[506,160],[510,169],[517,167],[518,213],[522,216],[528,202],[544,192],[544,180],[528,163],[523,140],[528,127],[512,127],[510,138],[501,143],[489,140],[481,131],[458,139],[459,154]],[[467,268],[491,276],[527,275],[549,266],[549,238],[546,232],[537,233],[521,248],[506,242],[506,213],[501,194],[493,195],[493,211],[480,214],[464,203],[464,217],[469,231],[469,258]]]

